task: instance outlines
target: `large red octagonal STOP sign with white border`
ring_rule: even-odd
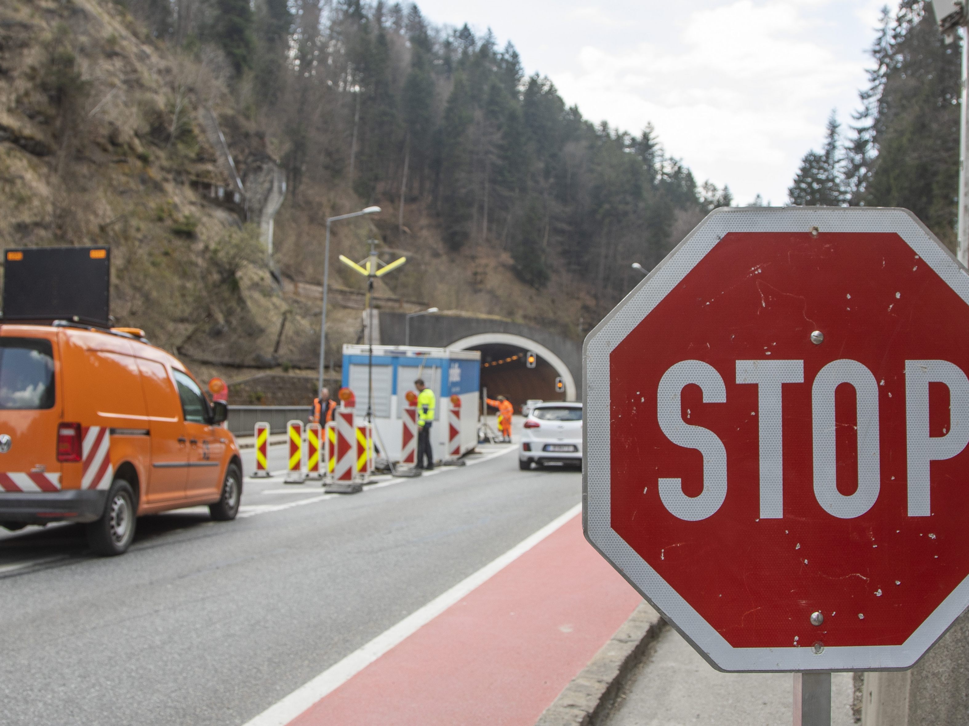
[[[589,541],[724,670],[969,604],[969,276],[898,209],[709,215],[586,339]]]

